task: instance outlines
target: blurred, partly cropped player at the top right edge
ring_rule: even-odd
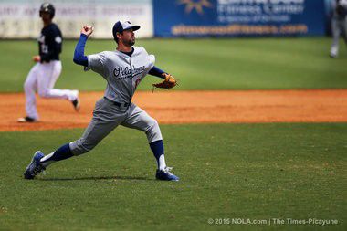
[[[347,45],[347,0],[331,1],[332,17],[332,44],[331,58],[337,58],[339,55],[339,40],[342,35],[345,44]]]

